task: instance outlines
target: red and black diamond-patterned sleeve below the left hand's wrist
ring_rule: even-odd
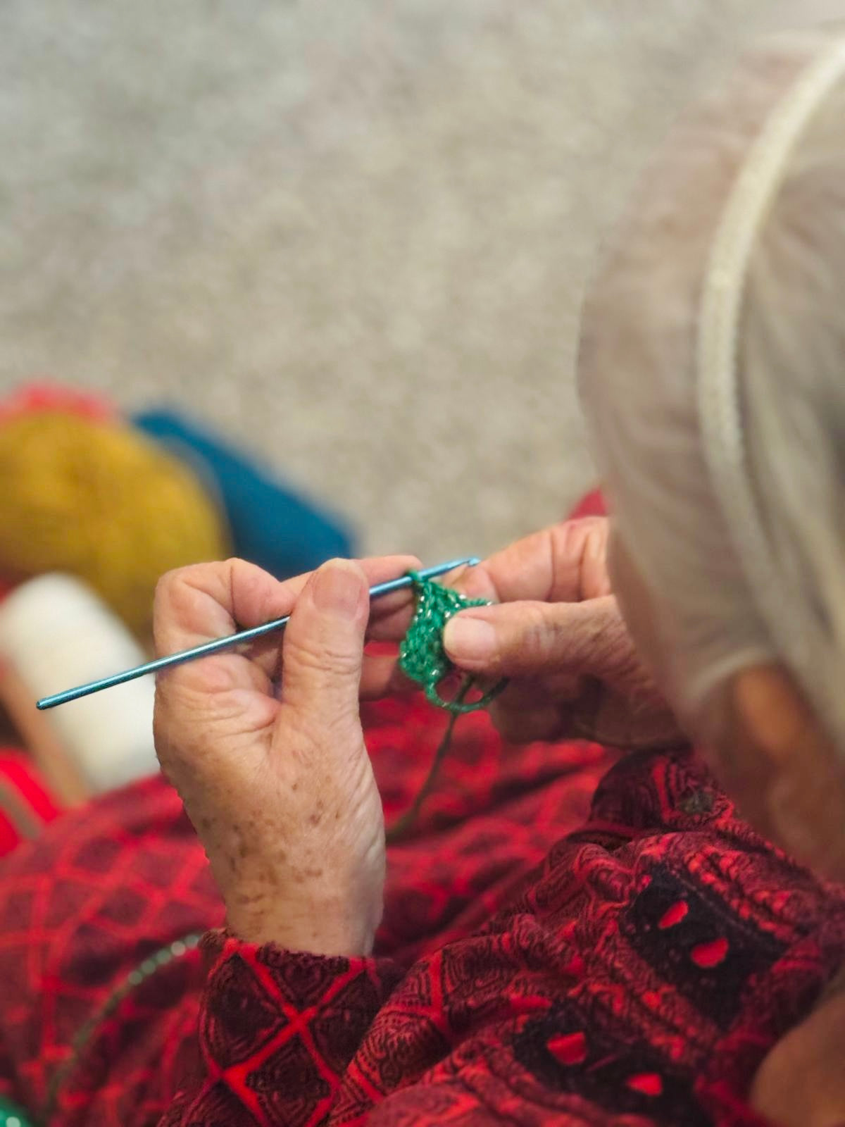
[[[341,958],[203,939],[210,971],[199,1014],[203,1070],[160,1127],[315,1124],[402,971]]]

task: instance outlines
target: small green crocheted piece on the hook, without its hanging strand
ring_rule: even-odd
[[[442,584],[435,583],[434,579],[421,579],[417,571],[408,574],[413,579],[417,610],[399,648],[399,667],[411,681],[422,685],[426,696],[437,708],[445,708],[455,716],[486,708],[493,696],[497,696],[505,687],[504,681],[493,685],[480,700],[470,703],[464,703],[463,699],[472,685],[471,677],[464,683],[455,699],[451,701],[443,700],[437,692],[437,685],[453,668],[443,647],[443,631],[446,623],[459,611],[463,611],[468,606],[489,606],[489,601],[487,598],[468,598],[466,595],[444,587]]]

